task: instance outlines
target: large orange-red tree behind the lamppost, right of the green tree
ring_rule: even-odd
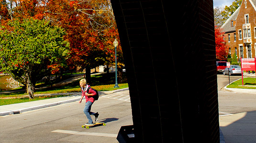
[[[112,42],[119,36],[110,0],[48,0],[44,15],[67,31],[68,65],[85,68],[89,83],[91,68],[114,63]],[[123,65],[120,47],[117,59]]]

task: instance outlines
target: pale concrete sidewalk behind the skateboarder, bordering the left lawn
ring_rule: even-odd
[[[115,91],[99,92],[99,96],[120,92],[124,90],[129,90],[129,89],[124,88],[124,89],[115,90]],[[62,93],[59,93],[59,94],[62,94]],[[63,94],[67,94],[67,93],[63,93]],[[76,101],[79,101],[81,98],[81,92],[74,92],[74,93],[68,93],[68,94],[72,94],[72,95],[33,101],[33,102],[23,102],[23,103],[17,103],[17,104],[2,105],[0,106],[0,116],[19,114],[26,111],[32,111],[36,109],[56,106],[56,105],[69,103],[69,102],[76,102]]]

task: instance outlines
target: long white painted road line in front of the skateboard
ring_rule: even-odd
[[[117,137],[117,134],[111,133],[89,133],[89,132],[77,132],[77,131],[68,131],[68,130],[55,130],[51,131],[53,133],[67,133],[67,134],[76,134],[76,135],[92,135],[92,136],[103,136],[103,137]]]

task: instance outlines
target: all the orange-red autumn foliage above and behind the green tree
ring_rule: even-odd
[[[63,37],[69,43],[69,56],[65,58],[70,70],[114,65],[112,43],[119,41],[119,36],[110,0],[0,0],[0,26],[8,29],[12,21],[22,23],[31,18],[65,30]],[[117,61],[122,67],[121,46],[117,48]],[[63,70],[58,63],[45,66],[51,73]]]

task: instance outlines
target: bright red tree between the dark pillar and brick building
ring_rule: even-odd
[[[228,56],[228,45],[224,40],[224,33],[220,27],[215,26],[215,47],[216,59],[218,61],[226,61]]]

